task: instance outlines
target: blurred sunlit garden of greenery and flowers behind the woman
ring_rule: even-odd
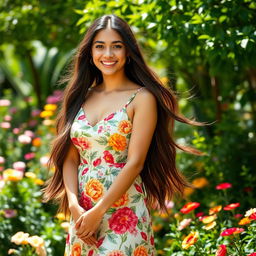
[[[180,111],[216,121],[207,127],[176,122],[177,142],[207,154],[178,151],[178,168],[195,188],[167,202],[169,214],[152,211],[158,255],[217,255],[221,248],[254,255],[251,0],[0,1],[0,255],[64,254],[68,220],[43,204],[40,192],[62,97],[57,81],[88,26],[110,13],[129,23],[148,65],[175,91]],[[220,235],[226,228],[240,231]]]

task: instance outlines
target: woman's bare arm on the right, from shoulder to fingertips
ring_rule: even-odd
[[[77,235],[83,238],[96,231],[104,213],[129,189],[143,168],[156,128],[157,101],[148,90],[142,90],[135,99],[127,162],[99,202],[77,220]]]

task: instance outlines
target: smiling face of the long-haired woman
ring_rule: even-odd
[[[122,70],[126,49],[121,36],[111,28],[99,31],[92,43],[92,58],[95,66],[105,75]]]

